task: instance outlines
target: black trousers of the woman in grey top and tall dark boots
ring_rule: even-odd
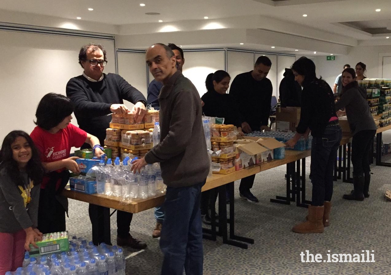
[[[369,153],[372,149],[372,140],[376,130],[359,131],[352,139],[353,176],[369,173]]]

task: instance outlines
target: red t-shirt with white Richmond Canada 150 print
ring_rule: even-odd
[[[69,158],[71,148],[81,147],[86,141],[87,133],[73,124],[68,124],[65,129],[61,129],[55,134],[36,126],[32,130],[30,137],[41,154],[41,162],[55,162]],[[60,173],[65,169],[63,168],[56,172]],[[48,181],[49,178],[44,177],[41,188],[45,189]],[[57,182],[56,189],[58,189],[60,183],[61,180]]]

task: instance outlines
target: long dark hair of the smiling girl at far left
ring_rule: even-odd
[[[34,145],[34,142],[30,138],[29,134],[24,131],[12,131],[5,136],[3,144],[0,149],[0,170],[6,169],[9,176],[14,180],[16,185],[23,182],[23,178],[18,168],[18,162],[14,160],[13,150],[11,144],[13,144],[18,137],[24,137],[31,148],[31,158],[26,166],[26,172],[30,179],[34,181],[34,185],[42,182],[43,178],[43,167],[41,160],[39,159],[39,151]]]

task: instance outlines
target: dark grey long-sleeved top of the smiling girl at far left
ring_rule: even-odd
[[[27,185],[27,174],[23,173]],[[31,189],[31,202],[24,206],[19,189],[6,169],[0,171],[0,232],[14,233],[38,224],[38,203],[40,184]]]

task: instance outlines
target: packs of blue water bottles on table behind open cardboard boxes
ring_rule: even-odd
[[[260,137],[260,138],[268,138],[272,137],[280,142],[287,142],[291,138],[293,138],[295,135],[294,132],[288,131],[269,131],[269,132],[261,132],[261,131],[253,131],[252,133],[246,134],[248,137]],[[311,149],[312,146],[312,136],[311,134],[308,135],[307,139],[304,139],[304,137],[301,137],[300,140],[296,143],[296,145],[293,148],[285,147],[285,149],[290,150],[296,150],[296,151],[305,151],[308,149]]]

